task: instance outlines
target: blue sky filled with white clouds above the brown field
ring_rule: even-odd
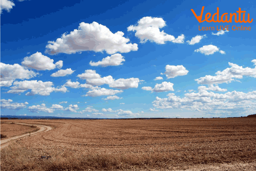
[[[202,6],[256,16],[253,1],[1,0],[1,115],[254,114],[255,20],[217,31],[241,23],[199,23]]]

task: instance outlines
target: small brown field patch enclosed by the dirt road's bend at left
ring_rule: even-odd
[[[1,135],[6,136],[6,139],[12,136],[19,136],[21,134],[26,134],[29,132],[35,132],[38,130],[36,126],[26,126],[26,125],[20,125],[20,124],[12,124],[12,123],[6,123],[6,122],[1,122]]]

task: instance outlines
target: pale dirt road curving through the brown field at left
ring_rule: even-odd
[[[11,122],[10,122],[10,123],[11,123]],[[32,125],[32,124],[24,124],[24,123],[15,123],[15,124],[29,125],[29,126]],[[40,132],[49,131],[49,130],[52,129],[52,127],[50,127],[50,126],[36,125],[36,124],[33,124],[33,125],[34,125],[34,126],[37,126],[37,127],[39,128],[39,130],[36,131],[36,132],[26,133],[26,134],[23,134],[23,135],[13,136],[13,137],[7,138],[7,139],[5,139],[5,140],[1,140],[1,146],[0,146],[0,148],[6,147],[6,146],[8,145],[8,141],[10,141],[10,140],[15,140],[15,139],[22,138],[22,137],[25,137],[25,136],[33,136],[33,135],[39,134]]]

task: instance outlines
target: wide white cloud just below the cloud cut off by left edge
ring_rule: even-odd
[[[26,93],[26,96],[31,96],[35,94],[39,94],[42,96],[49,96],[52,91],[55,90],[52,84],[52,82],[42,82],[37,80],[31,80],[31,81],[15,81],[13,83],[13,87],[10,87],[11,90],[7,91],[7,93],[23,93],[24,91],[27,91],[31,89],[30,92]]]

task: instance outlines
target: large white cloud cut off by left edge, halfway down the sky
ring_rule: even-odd
[[[32,70],[25,69],[23,66],[15,63],[14,65],[9,65],[5,63],[0,63],[1,68],[1,86],[9,87],[12,82],[16,79],[24,80],[36,77],[38,73]]]

